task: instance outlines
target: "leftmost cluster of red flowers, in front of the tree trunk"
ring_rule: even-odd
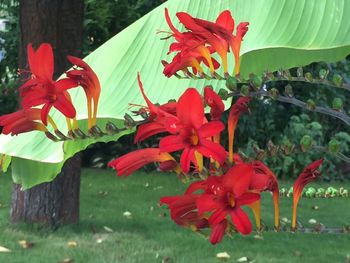
[[[76,109],[68,93],[69,89],[84,88],[88,105],[88,128],[96,124],[96,112],[100,95],[100,83],[94,71],[83,60],[68,56],[74,68],[66,72],[67,77],[53,79],[54,57],[50,44],[43,43],[35,51],[31,44],[27,48],[30,78],[19,88],[21,109],[0,117],[3,134],[17,135],[34,130],[43,131],[51,139],[48,123],[55,131],[58,128],[50,117],[52,107],[67,119],[69,131],[78,129]],[[93,102],[93,108],[92,108]]]

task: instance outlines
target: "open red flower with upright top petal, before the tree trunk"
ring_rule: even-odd
[[[29,44],[28,61],[32,77],[19,88],[22,107],[29,109],[43,105],[41,120],[45,125],[52,107],[67,118],[74,118],[76,111],[67,90],[77,85],[70,79],[52,80],[54,61],[50,44],[41,44],[37,51]]]

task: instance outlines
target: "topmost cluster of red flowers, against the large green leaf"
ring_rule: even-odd
[[[180,70],[186,75],[203,75],[202,63],[209,68],[211,75],[215,76],[215,70],[220,67],[220,63],[213,58],[214,53],[219,55],[224,74],[227,75],[227,53],[230,51],[235,58],[234,74],[239,73],[241,42],[248,31],[248,22],[240,23],[234,35],[235,22],[229,10],[223,11],[215,22],[194,18],[185,12],[179,12],[176,16],[188,31],[180,32],[171,22],[169,12],[165,9],[165,18],[172,31],[169,37],[175,39],[168,54],[176,52],[170,63],[163,62],[165,76],[171,77]],[[188,68],[192,68],[192,73]]]

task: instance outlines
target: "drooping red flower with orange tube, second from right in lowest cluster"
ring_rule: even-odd
[[[273,202],[275,207],[275,229],[279,229],[279,187],[276,175],[261,161],[255,161],[252,163],[254,167],[254,175],[252,176],[252,181],[250,183],[249,189],[253,191],[263,192],[270,191],[273,195]],[[256,215],[256,221],[258,223],[258,228],[260,228],[260,204],[251,207]]]

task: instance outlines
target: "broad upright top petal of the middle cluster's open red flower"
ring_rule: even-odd
[[[203,124],[204,106],[201,95],[194,88],[188,88],[181,95],[176,107],[177,117],[184,126],[198,129]]]

